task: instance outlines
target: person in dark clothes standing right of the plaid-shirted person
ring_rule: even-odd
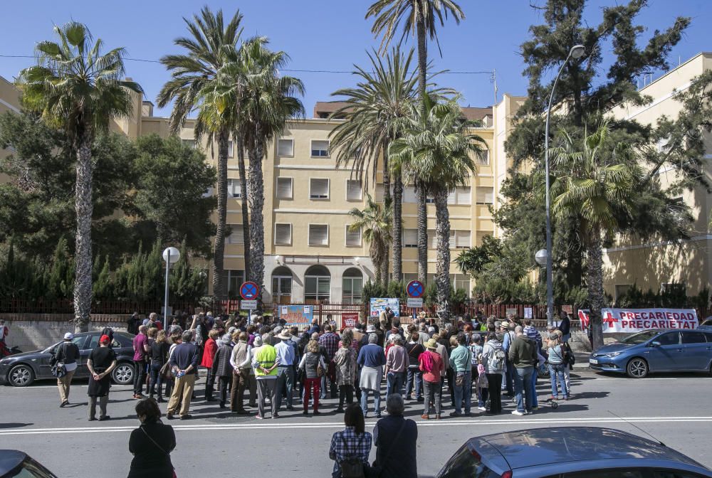
[[[376,422],[373,440],[376,444],[374,466],[380,476],[388,478],[417,478],[418,425],[403,416],[403,397],[392,393],[386,398],[388,416]]]

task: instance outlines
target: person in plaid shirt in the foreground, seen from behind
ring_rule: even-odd
[[[341,351],[343,349],[340,349]],[[338,354],[338,352],[337,352]],[[368,466],[368,455],[373,443],[372,435],[366,431],[363,410],[358,403],[350,403],[344,413],[346,429],[335,432],[331,437],[329,458],[334,460],[333,478],[342,477],[341,464],[346,460],[360,460],[362,467]]]

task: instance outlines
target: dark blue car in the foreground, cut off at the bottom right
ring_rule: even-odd
[[[438,478],[701,478],[680,452],[619,430],[548,427],[471,438]]]

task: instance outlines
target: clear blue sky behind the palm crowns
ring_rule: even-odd
[[[157,60],[177,53],[173,40],[187,31],[183,17],[197,13],[204,4],[188,0],[26,0],[3,2],[0,28],[0,55],[32,55],[37,41],[53,39],[52,26],[75,20],[86,23],[95,37],[108,48],[124,46],[131,58]],[[274,49],[286,51],[296,70],[352,70],[352,65],[367,65],[365,51],[378,46],[365,20],[371,0],[209,0],[212,9],[226,15],[240,9],[244,14],[245,36],[260,34],[271,39]],[[522,77],[523,63],[518,53],[528,38],[528,28],[542,22],[541,12],[530,4],[545,0],[459,0],[466,19],[458,26],[450,21],[439,33],[442,57],[437,46],[429,46],[436,68],[454,72],[496,70],[499,99],[505,92],[523,95],[527,82]],[[600,8],[614,0],[590,0],[585,15],[591,25],[600,22]],[[674,48],[670,64],[677,65],[701,51],[712,51],[709,28],[712,26],[712,0],[650,0],[639,23],[648,28],[641,40],[656,28],[671,25],[676,16],[691,16],[692,25]],[[413,42],[409,42],[411,46]],[[0,75],[12,80],[32,58],[0,57]],[[127,75],[138,81],[147,100],[155,102],[157,92],[169,78],[159,63],[127,60]],[[344,73],[293,71],[306,87],[303,98],[307,116],[315,102],[331,100],[331,92],[353,85]],[[464,104],[491,105],[494,99],[491,75],[449,74],[439,83],[454,87],[464,95]],[[157,115],[167,114],[157,111]]]

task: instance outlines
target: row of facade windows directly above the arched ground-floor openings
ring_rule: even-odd
[[[244,244],[244,228],[241,224],[231,224],[231,233],[226,238],[227,244]],[[349,225],[344,227],[344,245],[347,247],[359,248],[362,245],[361,230],[350,230]],[[274,244],[292,245],[292,224],[276,223],[274,225]],[[329,224],[309,224],[307,232],[308,245],[320,246],[330,245],[330,225]],[[450,230],[450,248],[466,249],[471,247],[470,230]],[[418,230],[404,229],[402,235],[404,248],[418,247]],[[437,238],[435,230],[428,230],[428,248],[437,248]]]

